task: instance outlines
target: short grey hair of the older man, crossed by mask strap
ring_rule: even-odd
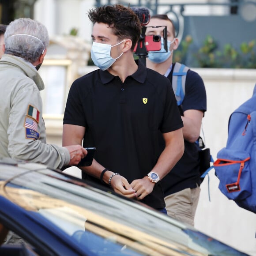
[[[4,43],[4,53],[33,63],[49,45],[49,34],[42,23],[30,18],[20,18],[8,25],[4,33]]]

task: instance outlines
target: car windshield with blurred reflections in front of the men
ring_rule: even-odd
[[[158,211],[38,166],[16,171],[11,178],[13,166],[5,168],[0,177],[7,181],[0,181],[0,193],[62,230],[84,251],[135,256],[242,255]]]

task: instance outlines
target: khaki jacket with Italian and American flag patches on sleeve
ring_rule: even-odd
[[[62,168],[66,148],[46,144],[40,90],[44,83],[25,60],[4,54],[0,60],[0,156]]]

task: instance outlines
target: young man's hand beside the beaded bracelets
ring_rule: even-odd
[[[132,189],[127,179],[124,178],[123,176],[115,175],[111,179],[111,187],[114,189],[116,193],[126,196],[128,198],[137,197],[136,191]]]

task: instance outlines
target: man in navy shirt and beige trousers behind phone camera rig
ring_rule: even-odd
[[[167,27],[168,52],[164,49],[162,26]],[[161,50],[148,53],[147,68],[170,79],[184,123],[184,155],[161,181],[166,210],[169,216],[193,226],[200,196],[200,159],[195,142],[200,136],[202,118],[206,111],[206,91],[200,75],[182,64],[173,63],[173,50],[178,48],[179,42],[175,37],[174,25],[167,15],[152,16],[147,24],[146,35],[161,36]],[[162,150],[162,138],[161,141]]]

